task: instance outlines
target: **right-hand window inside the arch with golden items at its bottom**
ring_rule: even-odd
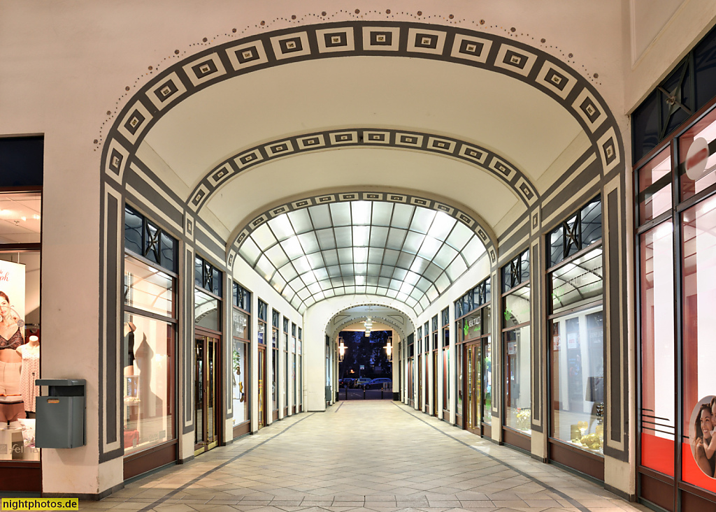
[[[551,233],[550,436],[603,453],[604,268],[601,202],[582,207]],[[576,254],[579,252],[579,254]]]

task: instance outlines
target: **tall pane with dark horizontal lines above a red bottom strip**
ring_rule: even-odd
[[[641,463],[674,476],[674,228],[672,221],[639,237],[642,359]],[[659,376],[657,377],[657,372]]]

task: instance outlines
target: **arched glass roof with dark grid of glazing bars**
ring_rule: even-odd
[[[360,293],[395,298],[418,314],[484,252],[475,232],[450,215],[366,200],[278,215],[239,250],[299,312]]]

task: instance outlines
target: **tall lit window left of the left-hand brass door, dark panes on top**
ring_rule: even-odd
[[[122,325],[125,456],[175,439],[178,242],[125,208]]]

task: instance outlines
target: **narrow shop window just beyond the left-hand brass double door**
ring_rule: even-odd
[[[231,387],[233,426],[249,420],[249,344],[251,343],[251,292],[233,282]]]

